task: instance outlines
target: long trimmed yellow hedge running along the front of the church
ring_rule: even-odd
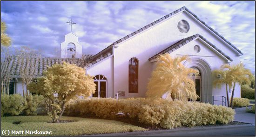
[[[216,123],[227,124],[234,119],[235,114],[234,110],[225,106],[145,98],[72,100],[65,110],[66,115],[95,115],[98,118],[115,118],[118,113],[123,113],[128,118],[138,119],[143,124],[160,125],[168,129],[181,125],[192,127]]]

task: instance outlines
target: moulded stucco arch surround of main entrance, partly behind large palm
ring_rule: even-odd
[[[197,85],[199,84],[197,88],[201,90],[201,102],[208,102],[212,104],[212,71],[211,67],[209,66],[209,63],[207,63],[202,58],[192,58],[191,62],[185,62],[184,64],[187,68],[196,68],[200,71],[201,77],[201,83],[200,80],[197,80]],[[201,86],[202,85],[202,86]]]

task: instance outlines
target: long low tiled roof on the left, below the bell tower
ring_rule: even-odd
[[[4,62],[1,62],[1,74],[7,74],[11,77],[20,77],[21,67],[29,67],[34,70],[35,76],[42,76],[43,71],[54,64],[62,64],[63,62],[74,63],[79,67],[85,67],[88,63],[87,59],[81,58],[50,58],[38,56],[7,56]],[[34,65],[35,64],[35,65]]]

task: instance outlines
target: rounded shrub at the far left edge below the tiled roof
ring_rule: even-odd
[[[25,99],[20,94],[1,94],[1,116],[19,115],[25,108]]]

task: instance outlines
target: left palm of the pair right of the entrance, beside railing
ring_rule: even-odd
[[[216,78],[216,80],[213,81],[214,87],[222,87],[222,84],[226,85],[226,93],[227,93],[227,103],[229,107],[229,92],[228,92],[228,86],[229,89],[231,88],[232,82],[228,81],[228,70],[222,70],[222,69],[216,69],[213,71],[213,75]]]

